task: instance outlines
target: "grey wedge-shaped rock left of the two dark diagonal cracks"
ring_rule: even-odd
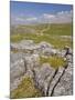
[[[41,68],[35,69],[35,83],[36,87],[46,96],[49,82],[52,80],[55,69],[50,67],[49,63],[44,63]]]

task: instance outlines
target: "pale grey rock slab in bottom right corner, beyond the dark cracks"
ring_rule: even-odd
[[[71,94],[73,94],[73,76],[69,72],[65,71],[60,82],[55,87],[53,96],[71,96]]]

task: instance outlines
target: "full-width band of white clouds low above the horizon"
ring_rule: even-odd
[[[73,11],[60,11],[56,13],[42,13],[40,16],[11,16],[11,23],[66,23],[72,22]]]

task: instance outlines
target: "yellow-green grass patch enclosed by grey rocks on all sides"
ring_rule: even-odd
[[[49,58],[40,57],[40,63],[50,63],[51,67],[57,69],[60,67],[65,67],[66,61],[62,57],[53,56]]]

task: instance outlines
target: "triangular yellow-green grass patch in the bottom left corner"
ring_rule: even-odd
[[[19,87],[11,91],[10,97],[13,98],[34,98],[42,97],[42,92],[34,87],[34,82],[31,78],[24,78]]]

